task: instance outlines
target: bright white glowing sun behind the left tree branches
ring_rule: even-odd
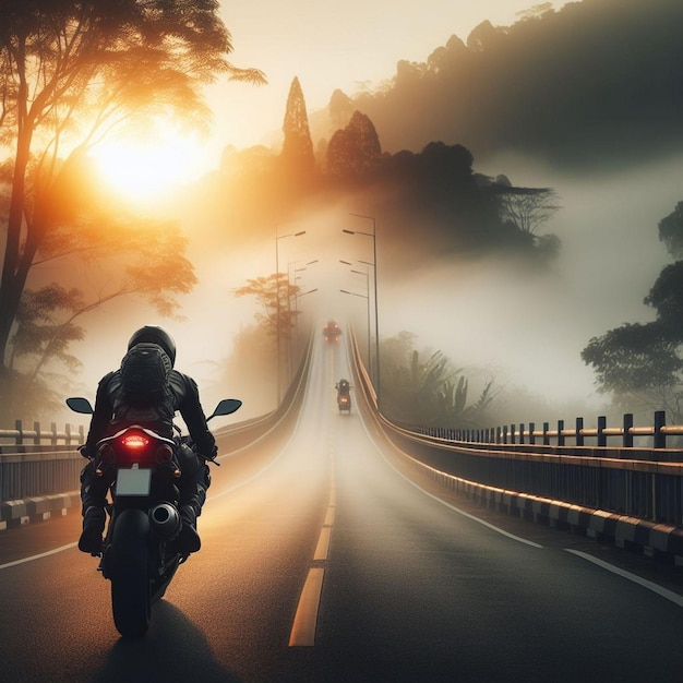
[[[146,139],[120,136],[94,146],[89,156],[117,193],[134,202],[154,202],[202,172],[201,145],[193,135],[159,127]]]

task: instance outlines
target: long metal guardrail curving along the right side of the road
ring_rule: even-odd
[[[600,418],[595,429],[585,428],[582,418],[572,429],[559,421],[552,430],[547,423],[541,430],[534,423],[492,430],[399,426],[379,410],[354,337],[351,346],[358,390],[386,436],[422,474],[487,504],[514,506],[516,514],[532,511],[546,520],[555,515],[555,522],[571,517],[577,527],[584,519],[598,535],[619,523],[627,531],[618,534],[635,537],[646,524],[648,539],[659,535],[669,542],[681,536],[683,558],[683,450],[664,447],[667,436],[683,434],[683,428],[667,427],[663,412],[646,427],[634,426],[632,416],[620,428],[608,428]],[[621,442],[608,446],[608,438]],[[650,438],[651,447],[634,445],[635,438]],[[587,445],[588,439],[595,444]]]

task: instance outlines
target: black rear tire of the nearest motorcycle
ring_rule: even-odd
[[[125,510],[111,541],[111,611],[117,631],[139,638],[149,627],[149,520],[141,510]]]

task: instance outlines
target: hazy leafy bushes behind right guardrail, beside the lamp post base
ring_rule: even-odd
[[[468,381],[441,351],[420,354],[415,335],[402,332],[382,342],[382,409],[405,424],[464,428],[484,419],[494,394],[487,382],[475,404],[467,404]]]

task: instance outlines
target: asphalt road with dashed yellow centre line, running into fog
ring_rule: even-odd
[[[221,458],[202,550],[140,640],[119,637],[77,516],[1,532],[0,680],[683,679],[680,571],[441,500],[355,390],[338,412],[350,374],[321,340],[290,428]]]

